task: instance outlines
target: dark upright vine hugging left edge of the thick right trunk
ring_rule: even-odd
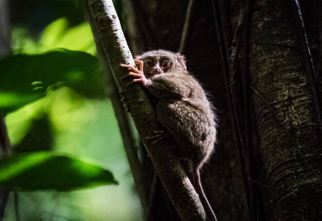
[[[235,97],[236,101],[236,110],[238,110],[236,115],[239,115],[238,130],[242,144],[241,152],[244,157],[245,173],[247,176],[255,178],[256,166],[253,152],[251,110],[249,106],[248,93],[248,50],[252,8],[252,1],[246,1],[246,6],[241,5],[240,18],[232,43],[231,63],[233,73],[230,81],[236,82],[236,86],[232,87],[232,91],[234,93],[233,97]],[[245,180],[244,182],[246,182],[246,199],[249,219],[255,221],[258,218],[257,204],[259,191],[257,187],[254,187],[254,185],[251,182],[248,182],[248,180]]]

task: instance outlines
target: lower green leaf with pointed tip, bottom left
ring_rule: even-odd
[[[110,171],[51,151],[0,158],[0,186],[10,190],[67,191],[108,184],[118,184]]]

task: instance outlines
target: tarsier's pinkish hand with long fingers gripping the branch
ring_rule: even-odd
[[[151,84],[151,80],[147,79],[146,76],[143,73],[143,61],[134,59],[134,63],[136,65],[139,65],[139,70],[136,68],[136,66],[120,64],[120,67],[128,68],[129,70],[134,71],[134,72],[129,72],[127,75],[121,77],[121,79],[125,79],[128,76],[134,76],[134,77],[137,77],[137,78],[134,78],[132,82],[128,83],[128,85],[132,85],[135,82],[141,82],[142,86],[147,87],[148,85]]]

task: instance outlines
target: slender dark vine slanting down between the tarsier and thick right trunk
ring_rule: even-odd
[[[240,32],[242,30],[242,25],[244,22],[244,8],[242,7],[240,10],[240,16],[237,28],[234,33],[234,37],[232,37],[231,32],[231,25],[230,25],[230,17],[228,14],[229,10],[227,10],[227,2],[221,1],[221,3],[218,2],[218,0],[212,1],[212,9],[214,14],[214,20],[216,25],[216,32],[217,32],[217,39],[218,44],[220,48],[220,55],[221,55],[221,62],[222,67],[224,71],[225,76],[225,82],[226,82],[226,88],[228,93],[228,99],[229,99],[229,108],[232,113],[232,124],[234,125],[234,135],[236,140],[236,146],[237,150],[239,152],[239,158],[240,158],[240,164],[241,164],[241,174],[243,178],[243,184],[245,189],[245,196],[246,196],[246,202],[248,207],[248,217],[251,219],[252,213],[251,213],[251,188],[249,188],[249,183],[247,180],[247,169],[249,168],[247,166],[247,158],[243,157],[243,147],[245,147],[245,139],[243,138],[243,129],[242,129],[242,111],[239,111],[241,109],[241,101],[240,97],[237,97],[239,94],[241,94],[240,91],[240,79],[237,77],[237,69],[238,69],[238,54],[240,49],[240,43],[239,43],[239,37]],[[223,13],[220,13],[222,9]],[[227,24],[227,25],[223,25]],[[231,43],[227,42],[231,39]],[[231,48],[230,48],[231,44]],[[231,53],[229,53],[231,51]],[[229,61],[229,63],[228,63]],[[238,84],[237,84],[238,83]],[[249,171],[249,169],[248,169]]]

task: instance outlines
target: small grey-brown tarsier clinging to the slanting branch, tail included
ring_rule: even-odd
[[[200,181],[200,170],[209,160],[216,142],[216,116],[200,83],[189,74],[185,58],[165,50],[148,51],[134,59],[139,69],[130,65],[132,82],[141,83],[153,95],[158,122],[166,129],[154,131],[155,143],[163,138],[175,145],[180,158],[189,160],[189,172],[201,202],[212,220],[217,220]]]

